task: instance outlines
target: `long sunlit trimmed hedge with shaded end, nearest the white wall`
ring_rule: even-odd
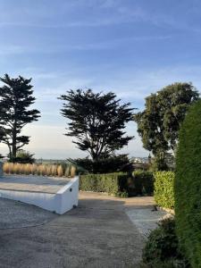
[[[80,190],[128,197],[129,175],[123,172],[80,175]]]

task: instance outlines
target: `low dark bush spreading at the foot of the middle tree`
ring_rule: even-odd
[[[88,157],[73,160],[89,173],[129,172],[132,164],[127,155],[113,155],[107,158],[92,161]]]

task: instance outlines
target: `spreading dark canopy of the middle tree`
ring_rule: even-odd
[[[133,109],[130,103],[121,105],[113,92],[78,89],[59,98],[64,101],[62,114],[70,120],[65,135],[75,137],[73,143],[93,160],[112,155],[133,138],[124,131],[126,123],[132,120]]]

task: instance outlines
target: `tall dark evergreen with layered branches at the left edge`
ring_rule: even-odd
[[[19,76],[12,79],[5,74],[0,80],[0,138],[9,148],[10,160],[14,161],[18,150],[29,144],[29,136],[21,135],[22,128],[32,121],[38,121],[39,111],[29,110],[36,98],[32,96],[31,79]]]

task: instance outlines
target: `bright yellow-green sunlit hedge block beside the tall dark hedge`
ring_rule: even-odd
[[[174,207],[174,172],[155,172],[155,202],[164,208]]]

